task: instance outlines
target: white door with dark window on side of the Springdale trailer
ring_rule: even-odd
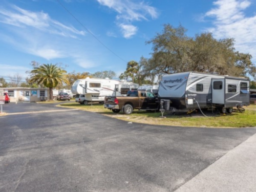
[[[213,104],[225,104],[225,79],[211,79]]]

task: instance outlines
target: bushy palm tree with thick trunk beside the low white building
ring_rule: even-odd
[[[32,76],[29,79],[29,83],[38,83],[49,88],[50,100],[53,100],[52,89],[58,84],[69,84],[66,73],[67,71],[56,65],[43,64],[31,71]]]

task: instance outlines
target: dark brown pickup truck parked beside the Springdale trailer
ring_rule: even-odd
[[[157,111],[158,99],[152,92],[129,91],[127,96],[106,96],[104,108],[112,110],[114,113],[122,111],[124,114],[132,114],[133,110]]]

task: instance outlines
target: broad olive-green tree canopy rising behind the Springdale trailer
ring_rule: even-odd
[[[186,32],[181,25],[175,28],[166,24],[161,33],[146,41],[153,45],[152,57],[143,58],[146,76],[197,71],[232,76],[249,74],[255,78],[256,68],[251,55],[236,51],[234,39],[217,40],[211,33],[189,37]]]

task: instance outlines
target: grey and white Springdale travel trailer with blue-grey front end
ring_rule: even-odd
[[[198,72],[164,75],[158,98],[170,100],[170,108],[189,111],[217,108],[232,113],[233,106],[249,105],[249,80]]]

